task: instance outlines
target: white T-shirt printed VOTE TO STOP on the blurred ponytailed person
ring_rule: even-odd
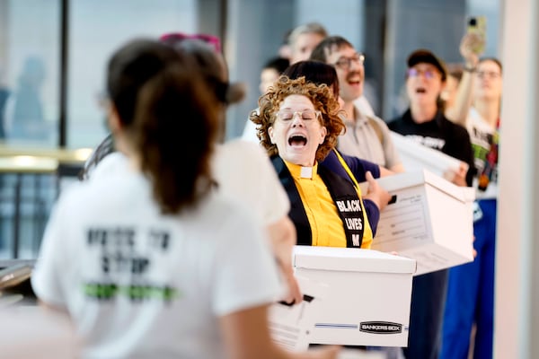
[[[219,193],[161,215],[149,182],[117,154],[59,198],[35,293],[69,311],[83,357],[222,357],[218,318],[281,294],[265,233]]]

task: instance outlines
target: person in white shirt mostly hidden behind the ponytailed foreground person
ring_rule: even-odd
[[[218,189],[249,206],[261,225],[268,230],[271,248],[283,279],[287,282],[288,290],[282,299],[285,302],[301,302],[303,295],[292,266],[296,232],[294,224],[287,216],[290,207],[287,193],[278,181],[268,156],[259,145],[239,139],[222,143],[225,111],[229,105],[243,100],[243,83],[229,82],[228,69],[220,52],[221,43],[218,38],[206,34],[171,32],[163,34],[160,41],[179,51],[183,57],[192,58],[191,65],[197,66],[208,84],[222,125],[211,162]],[[192,70],[194,71],[194,67]],[[127,161],[121,155],[110,158],[108,155],[114,151],[108,136],[85,163],[83,179],[87,180],[95,173],[115,171],[116,167],[122,165],[121,162]],[[265,188],[262,193],[259,191],[260,186]]]

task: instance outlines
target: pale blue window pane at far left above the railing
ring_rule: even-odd
[[[57,144],[59,14],[59,1],[0,0],[0,135],[8,144]]]

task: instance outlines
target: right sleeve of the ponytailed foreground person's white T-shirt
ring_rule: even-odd
[[[212,309],[217,316],[275,302],[283,295],[265,232],[242,208],[219,232]]]

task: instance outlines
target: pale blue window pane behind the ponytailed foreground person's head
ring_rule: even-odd
[[[111,53],[135,37],[196,32],[196,0],[73,0],[69,14],[68,147],[93,147],[107,133],[100,100]]]

